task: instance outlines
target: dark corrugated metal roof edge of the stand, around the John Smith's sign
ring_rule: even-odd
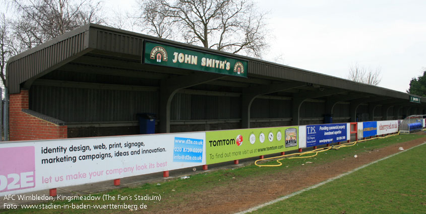
[[[131,57],[132,59],[141,58],[144,39],[248,60],[249,79],[252,76],[256,78],[272,78],[278,81],[297,81],[336,89],[367,92],[370,94],[399,98],[407,101],[409,99],[409,94],[403,92],[360,84],[341,78],[311,72],[309,70],[164,40],[96,24],[85,25],[12,57],[8,61],[7,65],[9,92],[19,93],[21,84],[26,81],[31,82],[32,80],[37,79],[44,74],[51,72],[53,69],[71,62],[73,59],[76,59],[92,50],[112,52],[114,55]],[[426,98],[423,98],[422,102],[426,102]]]

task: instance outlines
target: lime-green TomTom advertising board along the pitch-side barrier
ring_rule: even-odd
[[[206,164],[297,150],[298,126],[206,132]]]

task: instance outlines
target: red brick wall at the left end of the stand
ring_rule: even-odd
[[[22,109],[28,109],[28,90],[11,94],[9,101],[10,140],[67,138],[66,125],[56,125],[22,112]]]

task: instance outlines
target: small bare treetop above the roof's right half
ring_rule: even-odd
[[[349,65],[349,74],[347,79],[358,83],[369,84],[377,86],[382,81],[381,77],[382,69],[376,67],[376,69],[366,68],[360,66],[358,63]]]

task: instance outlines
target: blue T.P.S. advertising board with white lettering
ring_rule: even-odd
[[[306,147],[345,141],[347,140],[346,128],[346,123],[307,125]]]

